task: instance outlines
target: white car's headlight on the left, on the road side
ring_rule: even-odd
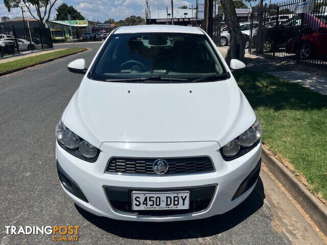
[[[55,134],[59,145],[66,152],[88,162],[95,162],[98,159],[100,150],[67,129],[61,120],[56,126]]]

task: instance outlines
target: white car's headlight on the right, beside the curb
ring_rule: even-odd
[[[221,152],[224,160],[230,161],[248,153],[259,143],[261,134],[262,128],[257,119],[251,128],[223,146]]]

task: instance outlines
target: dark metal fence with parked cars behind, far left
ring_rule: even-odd
[[[0,29],[0,58],[53,48],[49,28]]]

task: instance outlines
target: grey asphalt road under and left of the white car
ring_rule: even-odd
[[[78,58],[90,64],[99,45],[0,77],[0,244],[53,244],[49,235],[5,233],[5,226],[36,225],[80,226],[78,244],[291,244],[276,228],[261,180],[237,208],[192,222],[120,222],[74,205],[59,184],[54,129],[82,79],[67,64]]]

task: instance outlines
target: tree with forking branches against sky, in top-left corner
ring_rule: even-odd
[[[14,8],[27,8],[32,17],[39,20],[41,27],[45,26],[44,20],[49,20],[51,10],[56,2],[57,0],[4,0],[5,6],[9,12]],[[32,14],[34,8],[38,18],[35,17],[35,14]]]

